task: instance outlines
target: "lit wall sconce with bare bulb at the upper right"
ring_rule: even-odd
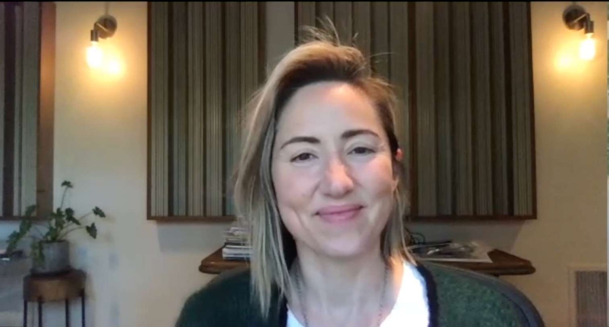
[[[579,5],[571,5],[563,13],[563,21],[570,30],[581,30],[585,39],[579,46],[579,58],[582,60],[593,60],[596,55],[596,40],[594,40],[594,21],[590,19],[590,13]]]

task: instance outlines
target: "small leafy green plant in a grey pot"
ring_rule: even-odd
[[[69,188],[72,188],[72,183],[64,181],[62,183],[63,196],[60,207],[55,212],[52,212],[41,222],[32,221],[32,217],[36,211],[35,205],[30,205],[26,209],[26,218],[21,221],[19,230],[9,235],[9,244],[6,253],[12,253],[18,246],[19,241],[25,238],[30,232],[33,235],[32,249],[32,274],[60,274],[71,269],[69,264],[69,243],[66,236],[75,230],[85,229],[92,237],[97,238],[97,227],[92,222],[86,225],[83,219],[93,213],[98,217],[105,217],[104,211],[98,207],[94,207],[91,212],[86,215],[76,218],[72,208],[63,208],[63,201]],[[38,227],[46,229],[42,233]]]

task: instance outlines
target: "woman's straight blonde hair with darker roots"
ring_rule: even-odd
[[[269,313],[273,287],[281,296],[292,289],[289,266],[296,256],[295,243],[277,208],[271,158],[281,110],[290,96],[307,84],[344,81],[373,100],[389,139],[393,169],[400,179],[393,212],[381,236],[382,256],[387,263],[396,257],[414,263],[406,249],[404,234],[403,221],[409,206],[403,165],[395,159],[398,140],[393,111],[397,101],[393,88],[382,78],[373,76],[361,51],[340,44],[336,30],[334,35],[312,27],[308,27],[308,31],[312,38],[283,57],[248,105],[241,157],[235,172],[234,204],[238,217],[244,219],[251,230],[252,296],[258,301],[263,317]]]

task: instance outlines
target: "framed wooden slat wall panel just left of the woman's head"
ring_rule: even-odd
[[[256,2],[150,4],[150,218],[233,213],[228,181],[264,52]]]

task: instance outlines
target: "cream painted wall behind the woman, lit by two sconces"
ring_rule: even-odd
[[[603,46],[591,63],[554,66],[582,38],[561,23],[568,4],[532,4],[538,220],[413,226],[428,238],[482,239],[532,260],[536,274],[507,280],[552,327],[568,326],[568,264],[607,262],[607,53]],[[596,21],[607,19],[605,2],[580,4]],[[293,5],[267,2],[267,69],[292,46]],[[226,225],[146,221],[146,3],[111,2],[118,31],[109,41],[124,60],[121,78],[91,74],[84,63],[89,30],[102,13],[103,2],[57,2],[55,191],[69,179],[77,212],[99,205],[109,216],[96,241],[72,238],[74,264],[90,277],[88,325],[171,326],[185,298],[209,281],[197,266],[221,246]],[[605,27],[596,24],[599,40]],[[0,238],[14,227],[1,225]],[[62,326],[62,307],[46,308],[45,326]],[[72,309],[74,324],[79,308]]]

